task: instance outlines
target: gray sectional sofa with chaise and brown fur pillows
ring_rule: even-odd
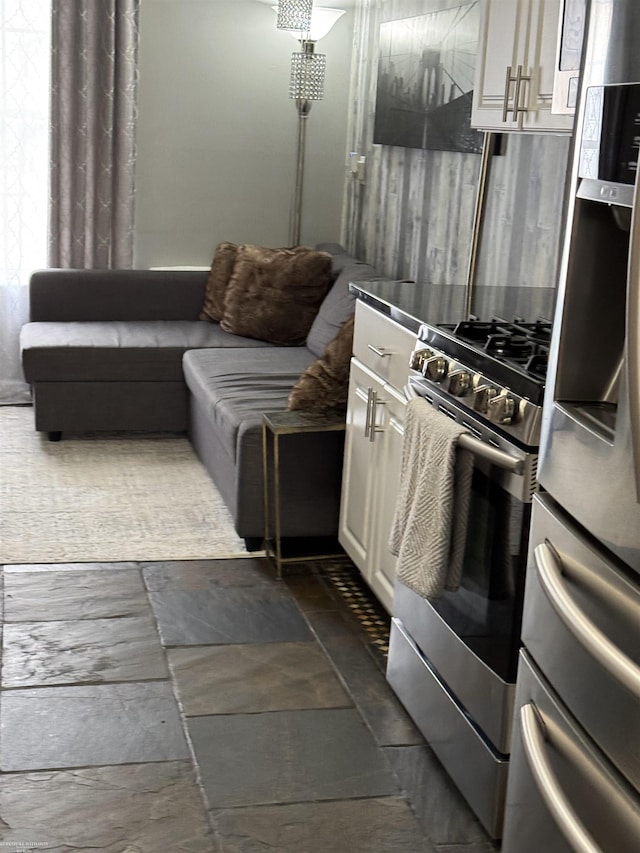
[[[272,346],[198,319],[205,271],[35,272],[21,350],[36,430],[52,439],[187,431],[239,536],[259,547],[262,415],[287,408],[300,374],[353,313],[349,282],[380,278],[341,246],[317,248],[332,255],[334,283],[303,346]],[[284,537],[335,534],[342,441],[319,433],[283,443]]]

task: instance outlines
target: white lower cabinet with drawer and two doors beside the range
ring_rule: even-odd
[[[370,306],[357,304],[339,539],[389,612],[396,558],[388,541],[400,484],[403,386],[415,337]]]

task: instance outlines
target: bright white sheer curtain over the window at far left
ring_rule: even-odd
[[[46,265],[50,18],[48,0],[0,3],[0,403],[29,389],[18,336],[31,272]]]

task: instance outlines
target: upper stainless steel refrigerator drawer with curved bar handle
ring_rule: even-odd
[[[536,495],[523,642],[571,713],[638,790],[639,613],[634,579],[548,495]]]

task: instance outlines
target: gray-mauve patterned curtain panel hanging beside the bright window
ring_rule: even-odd
[[[53,0],[49,266],[133,262],[140,0]]]

